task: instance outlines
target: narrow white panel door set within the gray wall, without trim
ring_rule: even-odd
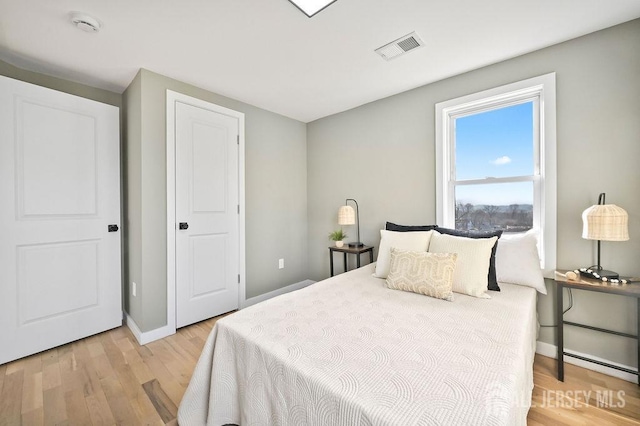
[[[238,309],[238,119],[176,103],[176,325]]]

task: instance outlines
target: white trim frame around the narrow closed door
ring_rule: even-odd
[[[238,120],[238,203],[239,225],[239,267],[238,308],[246,298],[245,272],[245,203],[244,203],[244,113],[234,111],[202,99],[193,98],[167,89],[167,331],[176,331],[176,103],[202,108]]]

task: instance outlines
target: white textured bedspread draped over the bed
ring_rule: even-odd
[[[216,323],[182,426],[525,425],[536,293],[453,302],[390,290],[368,265]]]

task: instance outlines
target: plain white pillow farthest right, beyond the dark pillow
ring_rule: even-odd
[[[547,294],[535,234],[502,234],[496,250],[498,282],[533,287]]]

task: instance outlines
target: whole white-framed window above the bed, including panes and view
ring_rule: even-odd
[[[555,268],[555,74],[436,105],[438,223],[538,237]]]

